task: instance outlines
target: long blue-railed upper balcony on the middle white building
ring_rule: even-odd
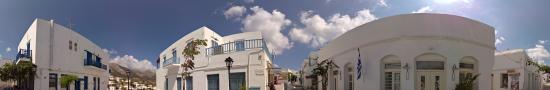
[[[245,51],[248,49],[262,48],[267,50],[266,44],[263,39],[251,39],[241,40],[235,42],[229,42],[218,46],[212,46],[206,49],[206,55],[219,55],[238,51]],[[268,52],[269,53],[269,52]]]

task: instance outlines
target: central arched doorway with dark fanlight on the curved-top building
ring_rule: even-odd
[[[445,57],[427,53],[417,56],[416,63],[416,90],[445,90]]]

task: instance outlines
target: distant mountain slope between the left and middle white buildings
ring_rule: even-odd
[[[151,70],[131,70],[126,67],[120,66],[116,63],[109,63],[111,69],[111,75],[114,77],[127,78],[127,70],[130,70],[131,80],[137,80],[140,82],[147,82],[148,84],[155,84],[155,72]]]

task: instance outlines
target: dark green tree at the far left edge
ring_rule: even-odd
[[[17,64],[7,63],[0,68],[0,80],[16,82],[19,87],[29,89],[36,77],[36,65],[30,61],[19,61]]]

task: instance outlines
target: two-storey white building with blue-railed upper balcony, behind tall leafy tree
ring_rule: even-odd
[[[182,51],[192,40],[207,40],[195,56],[195,69],[190,78],[182,78],[180,66],[185,60]],[[157,70],[158,90],[237,90],[246,86],[250,90],[267,90],[271,66],[270,53],[259,32],[245,32],[220,36],[206,27],[201,27],[174,42],[159,55]],[[224,60],[233,59],[231,75]],[[231,83],[229,82],[231,79]],[[246,83],[249,82],[249,83]]]

